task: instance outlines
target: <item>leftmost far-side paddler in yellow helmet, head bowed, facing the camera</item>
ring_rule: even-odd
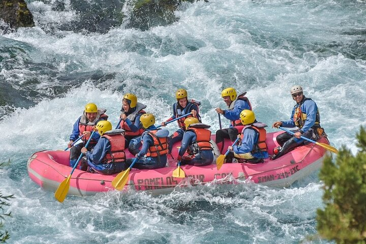
[[[97,105],[94,103],[88,103],[85,105],[83,114],[76,120],[73,131],[70,135],[70,142],[68,147],[70,148],[70,166],[74,167],[77,159],[81,154],[81,148],[86,144],[87,140],[92,134],[93,127],[97,125],[99,120],[107,120],[108,115],[105,114],[106,109],[98,109]],[[83,143],[71,146],[71,144],[81,135]],[[100,135],[94,133],[92,140],[90,140],[88,149],[91,150],[97,144]]]

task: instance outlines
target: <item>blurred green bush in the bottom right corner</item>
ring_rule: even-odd
[[[324,210],[317,210],[318,232],[336,243],[366,243],[366,131],[357,134],[356,156],[345,146],[337,160],[324,160]]]

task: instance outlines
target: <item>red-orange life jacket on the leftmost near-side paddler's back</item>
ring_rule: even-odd
[[[125,136],[121,133],[105,133],[102,137],[107,138],[111,145],[110,151],[103,159],[105,163],[121,163],[126,161]]]

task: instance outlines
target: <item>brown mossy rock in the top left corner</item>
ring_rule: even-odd
[[[33,15],[24,0],[0,0],[0,19],[10,28],[33,27]]]

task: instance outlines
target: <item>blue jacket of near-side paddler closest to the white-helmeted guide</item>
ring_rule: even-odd
[[[250,153],[251,151],[253,151],[254,145],[256,145],[258,142],[258,132],[256,132],[254,129],[247,128],[242,133],[243,133],[243,138],[241,140],[241,145],[233,146],[233,151],[235,154]],[[262,158],[262,159],[266,159],[269,157],[267,151],[263,151],[263,152],[259,151],[252,155],[256,158]]]

